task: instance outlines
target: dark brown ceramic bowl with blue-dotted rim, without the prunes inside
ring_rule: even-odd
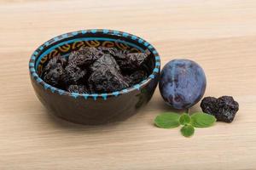
[[[42,68],[58,54],[65,57],[81,46],[115,47],[144,52],[149,55],[145,64],[149,77],[131,88],[110,94],[77,94],[55,88],[44,82],[39,75]],[[140,37],[122,31],[83,30],[73,31],[44,42],[32,54],[29,61],[32,86],[38,99],[55,116],[69,122],[97,125],[122,121],[134,115],[148,103],[154,94],[160,75],[160,57],[154,47]]]

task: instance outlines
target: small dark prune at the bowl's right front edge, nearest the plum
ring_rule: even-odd
[[[128,82],[130,86],[142,82],[148,77],[145,71],[135,71],[130,76],[125,76],[125,81]]]

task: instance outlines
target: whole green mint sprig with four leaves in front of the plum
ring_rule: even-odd
[[[211,127],[216,122],[216,118],[203,112],[196,112],[189,116],[183,113],[182,115],[174,112],[165,112],[156,116],[154,124],[160,128],[175,128],[183,125],[180,132],[184,137],[190,137],[195,133],[195,127]]]

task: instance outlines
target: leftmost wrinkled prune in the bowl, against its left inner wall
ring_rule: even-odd
[[[42,78],[44,82],[51,84],[52,86],[59,87],[64,77],[63,66],[66,65],[67,60],[61,58],[61,55],[55,56],[49,59],[48,64],[42,71]]]

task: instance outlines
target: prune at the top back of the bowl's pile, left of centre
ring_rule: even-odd
[[[69,55],[68,64],[87,66],[102,57],[102,54],[103,53],[96,48],[82,47]]]

